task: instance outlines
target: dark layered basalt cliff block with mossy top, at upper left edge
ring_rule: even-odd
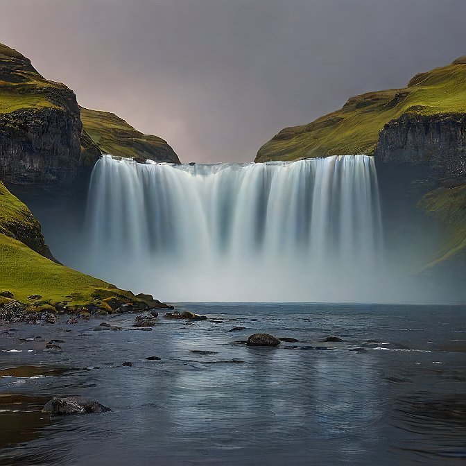
[[[0,178],[15,193],[69,191],[100,152],[81,155],[76,95],[0,44]]]

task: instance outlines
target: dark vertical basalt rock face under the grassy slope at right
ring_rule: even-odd
[[[374,151],[383,163],[429,167],[438,180],[466,176],[466,114],[404,114],[383,126]]]

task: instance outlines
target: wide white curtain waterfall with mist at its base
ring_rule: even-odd
[[[268,164],[100,159],[85,269],[166,301],[370,301],[381,216],[372,157]]]

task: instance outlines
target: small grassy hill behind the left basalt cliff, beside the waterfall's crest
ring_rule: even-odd
[[[180,160],[164,139],[144,135],[113,113],[81,107],[81,121],[87,135],[102,153],[137,160],[158,160],[179,164]]]

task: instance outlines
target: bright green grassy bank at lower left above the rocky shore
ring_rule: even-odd
[[[0,182],[0,307],[8,301],[28,304],[31,311],[44,307],[112,311],[108,300],[158,307],[158,302],[135,297],[50,260],[40,223]],[[5,293],[6,292],[6,293]],[[12,295],[12,297],[11,297]],[[34,300],[31,295],[40,296]],[[141,304],[137,304],[141,305]]]

